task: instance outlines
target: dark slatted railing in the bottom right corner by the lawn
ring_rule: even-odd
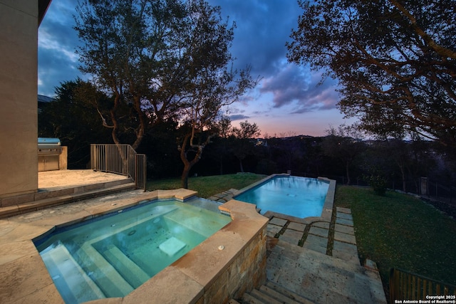
[[[398,268],[390,270],[390,303],[395,303],[395,300],[429,300],[426,296],[455,295],[455,292],[455,285],[435,281]]]

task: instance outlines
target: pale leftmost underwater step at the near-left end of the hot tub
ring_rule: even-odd
[[[53,251],[41,253],[41,258],[46,266],[51,266],[49,274],[66,302],[105,298],[98,285],[83,271],[60,241]]]

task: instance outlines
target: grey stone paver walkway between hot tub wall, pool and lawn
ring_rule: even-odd
[[[209,199],[225,202],[235,192]],[[331,221],[264,215],[269,217],[268,281],[312,303],[386,303],[375,263],[359,261],[350,209],[336,207]]]

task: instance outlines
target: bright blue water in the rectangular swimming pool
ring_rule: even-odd
[[[256,204],[260,213],[274,211],[304,218],[321,216],[329,183],[308,177],[276,176],[234,197]]]

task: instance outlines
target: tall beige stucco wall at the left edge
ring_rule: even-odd
[[[0,0],[0,196],[36,192],[38,1]]]

